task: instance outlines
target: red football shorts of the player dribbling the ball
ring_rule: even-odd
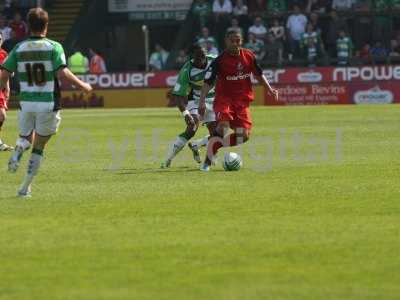
[[[215,99],[214,112],[217,122],[229,121],[230,127],[245,128],[252,127],[249,101],[231,101],[230,99]]]

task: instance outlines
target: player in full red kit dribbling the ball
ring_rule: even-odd
[[[216,81],[214,111],[217,129],[208,142],[207,156],[200,170],[209,171],[218,149],[245,143],[250,136],[252,120],[249,105],[254,100],[251,74],[265,87],[275,100],[278,91],[273,89],[262,69],[257,64],[253,52],[242,48],[242,36],[237,31],[228,31],[225,36],[226,50],[210,65],[205,75],[199,113],[205,110],[205,97]],[[229,129],[233,133],[228,133]]]

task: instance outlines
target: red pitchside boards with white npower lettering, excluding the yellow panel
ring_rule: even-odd
[[[265,96],[266,105],[399,103],[400,66],[321,67],[265,70],[280,99]],[[173,87],[177,71],[80,75],[95,90]],[[255,82],[256,83],[256,82]],[[66,82],[63,90],[74,90]]]

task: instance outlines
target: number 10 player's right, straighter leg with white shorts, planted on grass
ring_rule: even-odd
[[[43,154],[50,138],[56,134],[60,126],[60,112],[37,113],[35,124],[35,138],[33,140],[32,153],[29,158],[27,172],[24,181],[18,191],[22,197],[30,196],[31,184],[38,174],[43,160]]]

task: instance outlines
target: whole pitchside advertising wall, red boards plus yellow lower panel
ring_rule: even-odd
[[[280,91],[274,102],[261,86],[255,87],[255,105],[314,105],[400,103],[400,66],[324,67],[265,70]],[[163,107],[175,84],[176,71],[82,75],[94,86],[88,96],[62,83],[63,106]],[[256,82],[255,82],[256,83]]]

